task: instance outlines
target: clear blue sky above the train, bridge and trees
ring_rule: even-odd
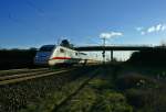
[[[100,45],[103,33],[107,44],[157,45],[166,40],[165,4],[166,0],[0,0],[0,47],[39,47],[59,38]]]

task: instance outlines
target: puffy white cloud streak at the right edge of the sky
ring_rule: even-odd
[[[148,29],[137,27],[136,31],[141,32],[142,35],[149,34],[149,33],[163,32],[163,31],[166,31],[166,24],[157,24],[157,25],[151,26]]]

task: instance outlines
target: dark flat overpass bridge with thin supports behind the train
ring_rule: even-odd
[[[103,52],[103,58],[105,58],[105,52],[111,52],[111,60],[113,60],[114,51],[165,51],[166,47],[162,46],[79,46],[74,48],[80,52]]]

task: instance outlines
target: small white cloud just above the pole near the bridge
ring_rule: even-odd
[[[112,37],[122,36],[122,35],[123,35],[123,33],[121,33],[121,32],[110,32],[110,33],[101,33],[100,37],[101,38],[112,38]]]

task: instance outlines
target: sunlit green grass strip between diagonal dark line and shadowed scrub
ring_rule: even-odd
[[[132,112],[133,108],[127,103],[125,96],[114,90],[113,69],[101,69],[100,74],[58,112]]]

